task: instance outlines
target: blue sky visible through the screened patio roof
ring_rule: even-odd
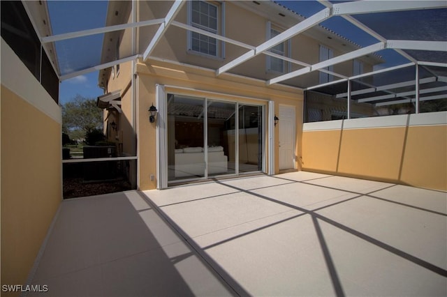
[[[305,17],[309,17],[325,8],[317,1],[277,2]],[[48,8],[52,20],[53,34],[105,26],[107,1],[48,1]],[[323,22],[322,25],[363,47],[377,42],[375,38],[353,26],[342,17],[332,17]],[[102,42],[102,34],[57,42],[56,49],[62,74],[100,64]],[[387,67],[406,62],[405,59],[402,59],[402,56],[392,50],[381,51],[379,54],[386,61],[391,62],[386,64]],[[64,57],[67,57],[67,59],[64,59]],[[87,98],[101,96],[103,89],[100,89],[97,85],[97,71],[65,80],[60,84],[59,102],[64,104],[78,94]]]

